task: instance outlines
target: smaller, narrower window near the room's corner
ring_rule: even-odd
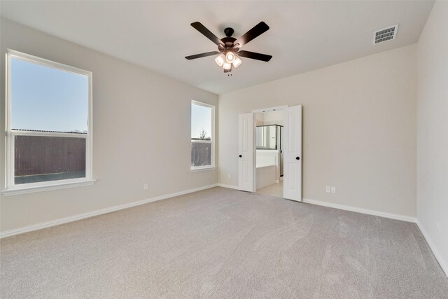
[[[215,166],[214,106],[191,102],[191,169]]]

